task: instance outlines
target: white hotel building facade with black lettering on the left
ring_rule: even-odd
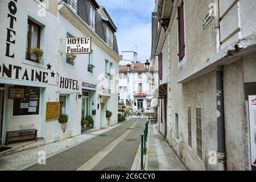
[[[86,115],[96,129],[117,123],[114,77],[121,57],[104,7],[89,0],[10,0],[1,1],[0,10],[2,144],[6,131],[28,128],[45,143],[79,135]],[[92,52],[66,55],[66,39],[81,37],[91,38]],[[42,59],[32,48],[42,49]],[[65,126],[48,121],[48,102],[60,103],[60,114],[69,118]],[[106,110],[113,111],[109,120]]]

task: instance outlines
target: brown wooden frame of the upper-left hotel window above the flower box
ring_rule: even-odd
[[[32,25],[34,25],[34,26],[36,26],[36,27],[38,27],[38,42],[37,42],[37,48],[40,48],[40,42],[41,42],[41,29],[42,29],[42,27],[39,25],[39,24],[37,24],[37,23],[35,23],[35,22],[33,22],[32,20],[30,20],[30,19],[28,19],[27,20],[27,24],[28,24],[28,37],[27,37],[27,44],[26,44],[26,49],[27,49],[27,53],[26,53],[26,60],[28,60],[28,61],[32,61],[32,62],[35,62],[35,63],[40,63],[40,61],[36,58],[36,60],[33,60],[33,59],[31,59],[31,52],[30,52],[30,50],[31,50],[31,39],[32,39]]]

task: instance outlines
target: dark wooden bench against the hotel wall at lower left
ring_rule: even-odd
[[[6,146],[9,143],[14,142],[24,142],[28,140],[38,140],[38,130],[30,129],[30,130],[17,130],[17,131],[6,131]]]

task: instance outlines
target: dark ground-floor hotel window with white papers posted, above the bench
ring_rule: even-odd
[[[20,87],[20,86],[15,86]],[[39,114],[40,106],[40,88],[24,87],[25,98],[14,99],[13,115],[35,115]]]

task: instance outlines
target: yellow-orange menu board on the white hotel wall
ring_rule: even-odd
[[[60,102],[46,102],[46,121],[59,119]]]

